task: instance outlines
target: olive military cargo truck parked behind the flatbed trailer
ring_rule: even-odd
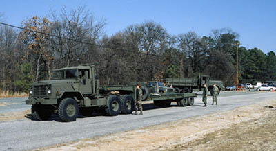
[[[216,84],[219,92],[223,88],[222,81],[210,80],[208,75],[199,75],[197,78],[166,78],[166,84],[177,89],[179,93],[192,93],[194,90],[201,91],[204,83],[206,83],[210,93],[213,93],[213,84]]]

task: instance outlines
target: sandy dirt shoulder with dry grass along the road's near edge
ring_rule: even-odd
[[[37,150],[275,150],[276,144],[268,146],[275,140],[275,106],[276,101],[262,102]]]

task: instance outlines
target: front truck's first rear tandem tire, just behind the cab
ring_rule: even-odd
[[[116,95],[110,95],[108,99],[108,105],[105,109],[106,115],[116,116],[121,111],[121,100]]]

